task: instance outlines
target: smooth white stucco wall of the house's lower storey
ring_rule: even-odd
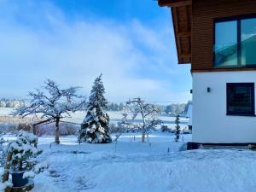
[[[193,73],[193,142],[256,143],[256,117],[226,115],[226,83],[253,82],[253,71]]]

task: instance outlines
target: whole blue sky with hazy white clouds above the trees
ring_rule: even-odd
[[[170,9],[154,0],[0,0],[0,97],[26,98],[45,79],[90,94],[100,73],[110,102],[190,99]]]

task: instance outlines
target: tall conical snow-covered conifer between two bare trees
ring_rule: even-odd
[[[111,143],[108,133],[109,116],[105,112],[107,100],[103,96],[105,88],[102,74],[97,77],[90,91],[88,111],[79,131],[79,143]]]

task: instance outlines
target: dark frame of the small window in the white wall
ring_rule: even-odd
[[[246,113],[236,113],[236,112],[230,112],[229,110],[229,103],[230,103],[230,96],[229,96],[229,88],[230,86],[245,86],[245,87],[250,87],[252,90],[251,93],[251,103],[252,103],[252,112]],[[227,83],[226,84],[226,114],[230,116],[255,116],[255,85],[254,83]]]

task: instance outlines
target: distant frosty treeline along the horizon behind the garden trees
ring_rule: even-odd
[[[190,101],[187,103],[172,103],[170,105],[156,105],[159,113],[170,113],[170,114],[182,114],[186,113],[189,107]],[[0,99],[0,108],[20,108],[22,106],[28,106],[29,102],[23,99]],[[86,107],[84,106],[84,109]],[[109,111],[123,111],[125,108],[124,102],[110,102],[108,103]]]

